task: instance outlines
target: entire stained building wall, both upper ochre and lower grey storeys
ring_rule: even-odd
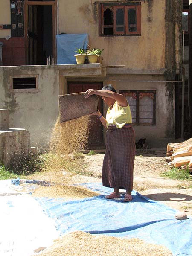
[[[134,126],[136,138],[146,137],[151,147],[174,140],[175,87],[155,81],[174,80],[180,72],[182,1],[142,1],[141,36],[110,37],[98,36],[99,2],[103,1],[57,0],[57,33],[87,33],[92,48],[105,48],[102,65],[125,65],[123,69],[106,71],[94,69],[92,64],[87,64],[86,72],[78,65],[0,67],[0,108],[9,108],[10,127],[29,130],[32,146],[46,148],[58,117],[58,94],[68,93],[67,81],[102,81],[104,85],[113,84],[118,91],[156,90],[156,124]],[[10,24],[10,1],[3,0],[3,7],[0,23]],[[10,31],[0,30],[0,37],[6,35]],[[37,75],[39,92],[11,91],[10,76],[14,75]]]

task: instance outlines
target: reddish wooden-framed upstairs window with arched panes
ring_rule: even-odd
[[[141,3],[99,3],[99,36],[141,35]]]

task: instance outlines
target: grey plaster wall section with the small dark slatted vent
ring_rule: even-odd
[[[11,92],[10,76],[38,75],[39,92]],[[59,71],[51,66],[0,67],[0,108],[9,109],[9,128],[25,128],[31,145],[46,149],[58,118]]]

